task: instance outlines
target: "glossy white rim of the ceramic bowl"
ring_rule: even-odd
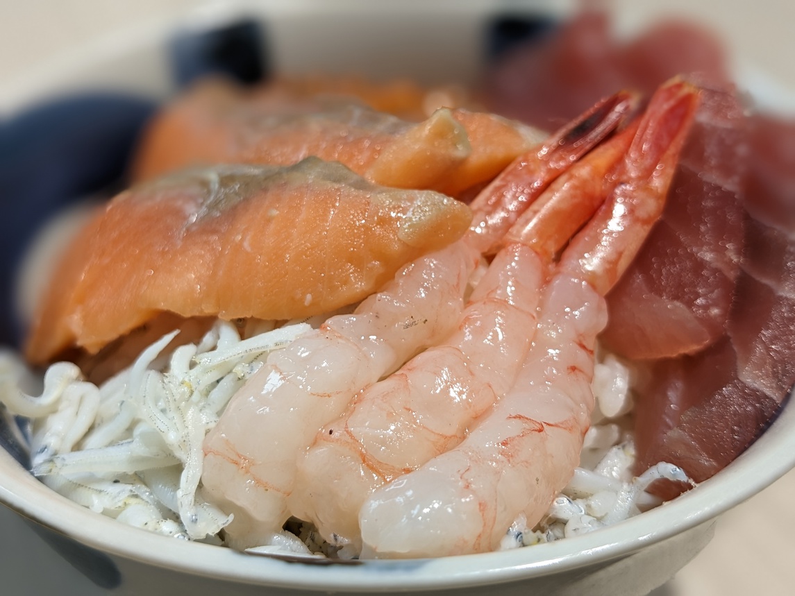
[[[155,38],[165,35],[173,25],[135,32],[124,41],[122,53],[142,48],[151,50]],[[102,57],[89,59],[91,55]],[[21,105],[46,97],[53,86],[58,87],[68,80],[70,72],[85,71],[115,60],[117,56],[78,52],[66,61],[45,65],[41,72],[16,87],[13,103]],[[5,450],[0,450],[0,503],[88,547],[190,575],[295,590],[389,590],[394,588],[396,580],[401,590],[433,590],[515,582],[631,555],[711,521],[793,467],[795,404],[787,403],[770,428],[725,470],[681,497],[638,517],[566,540],[510,551],[439,559],[375,560],[356,565],[289,563],[245,555],[228,548],[169,540],[119,524],[50,490]],[[301,564],[300,574],[294,572],[296,564]]]

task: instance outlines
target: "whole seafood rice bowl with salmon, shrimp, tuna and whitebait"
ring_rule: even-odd
[[[795,466],[792,126],[695,29],[595,66],[604,15],[562,14],[473,5],[440,44],[397,11],[420,67],[355,56],[400,45],[380,14],[329,12],[324,52],[227,10],[29,79],[9,130],[98,132],[19,198],[67,215],[17,230],[0,501],[118,594],[673,577]],[[679,35],[707,57],[636,68]]]

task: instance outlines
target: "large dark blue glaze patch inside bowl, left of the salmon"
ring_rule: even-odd
[[[0,341],[18,343],[12,288],[17,262],[51,215],[122,177],[153,103],[77,95],[0,124]]]

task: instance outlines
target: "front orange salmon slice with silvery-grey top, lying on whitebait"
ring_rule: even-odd
[[[26,352],[95,353],[162,312],[293,319],[375,292],[460,238],[469,207],[385,188],[341,164],[227,165],[122,192],[64,255]]]

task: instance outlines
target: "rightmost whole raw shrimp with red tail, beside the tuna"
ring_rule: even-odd
[[[615,188],[545,285],[513,389],[459,446],[374,491],[359,515],[363,556],[493,550],[514,518],[533,525],[568,482],[593,406],[603,296],[661,213],[697,101],[696,89],[677,81],[653,96]]]

